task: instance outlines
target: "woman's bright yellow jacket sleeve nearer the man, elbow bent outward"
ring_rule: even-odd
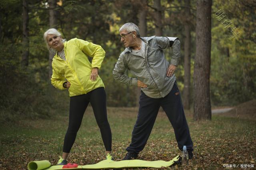
[[[106,53],[104,49],[100,45],[82,39],[76,39],[76,44],[86,55],[93,57],[92,68],[97,67],[100,69]]]

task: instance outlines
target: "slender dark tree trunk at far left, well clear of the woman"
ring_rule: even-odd
[[[29,38],[28,38],[28,2],[23,0],[23,12],[22,12],[22,59],[21,65],[28,66],[28,55],[29,55]]]

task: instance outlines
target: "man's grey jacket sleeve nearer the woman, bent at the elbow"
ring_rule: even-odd
[[[121,83],[128,84],[129,86],[137,86],[137,78],[128,77],[125,74],[126,68],[127,66],[124,61],[124,56],[121,54],[113,70],[114,79]]]

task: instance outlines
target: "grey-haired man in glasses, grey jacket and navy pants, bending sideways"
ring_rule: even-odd
[[[180,58],[180,41],[175,37],[140,37],[134,23],[125,23],[119,29],[121,42],[126,49],[113,70],[114,79],[129,86],[141,87],[137,121],[132,131],[132,142],[126,148],[123,160],[136,159],[148,141],[160,106],[164,109],[172,127],[178,148],[186,146],[188,157],[193,157],[193,142],[184,115],[180,91],[174,72]],[[163,50],[172,48],[170,63]],[[128,69],[136,78],[128,77]]]

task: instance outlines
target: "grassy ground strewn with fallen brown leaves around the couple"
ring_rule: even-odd
[[[121,160],[126,154],[136,114],[136,108],[108,108],[115,160]],[[256,167],[255,120],[213,115],[212,121],[195,122],[191,113],[186,111],[186,115],[194,142],[194,158],[190,160],[189,166],[171,166],[166,169]],[[68,113],[52,119],[22,120],[0,125],[0,169],[23,170],[33,160],[49,160],[56,164],[62,153],[67,125]],[[159,112],[150,139],[138,158],[169,161],[178,154],[180,150],[172,126],[165,113]],[[95,164],[104,158],[100,131],[92,109],[88,107],[68,161],[86,165]]]

